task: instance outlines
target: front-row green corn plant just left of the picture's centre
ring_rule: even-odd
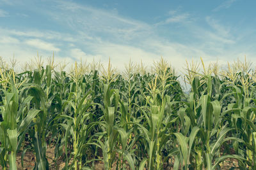
[[[131,154],[126,150],[127,140],[131,131],[125,131],[124,127],[119,126],[116,122],[116,114],[120,98],[118,90],[110,88],[111,86],[109,84],[104,84],[103,106],[101,106],[104,113],[104,122],[99,122],[99,124],[106,132],[100,132],[95,134],[95,136],[99,136],[99,138],[95,141],[97,142],[97,145],[99,145],[102,149],[105,169],[111,169],[112,164],[116,160],[116,153],[120,153],[122,155],[123,167],[124,160],[127,160],[131,169],[135,169],[134,160],[132,159]],[[122,113],[124,113],[124,110],[122,111]],[[101,138],[103,139],[103,141],[100,141]],[[122,150],[116,147],[118,143],[122,145]]]

